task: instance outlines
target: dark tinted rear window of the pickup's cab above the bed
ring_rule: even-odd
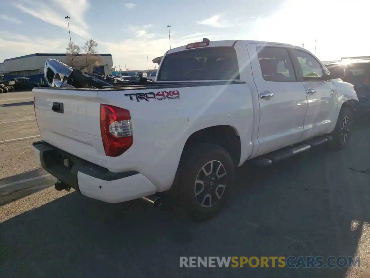
[[[206,47],[165,56],[157,81],[239,80],[233,47]]]

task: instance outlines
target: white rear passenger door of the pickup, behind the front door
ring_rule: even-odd
[[[292,56],[279,45],[248,44],[253,80],[259,94],[258,155],[299,142],[307,98]]]

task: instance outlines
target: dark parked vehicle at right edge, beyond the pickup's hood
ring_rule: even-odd
[[[326,64],[329,70],[336,66],[343,66],[346,76],[342,78],[344,82],[353,84],[354,90],[359,97],[359,103],[354,110],[359,112],[370,112],[370,59],[343,60],[335,63]]]

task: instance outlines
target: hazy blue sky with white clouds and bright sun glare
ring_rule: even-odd
[[[98,42],[113,66],[154,68],[171,48],[210,40],[263,40],[302,46],[320,60],[370,55],[364,0],[0,0],[0,62],[32,53],[65,53]],[[166,26],[170,25],[171,28]],[[147,59],[148,57],[148,59]]]

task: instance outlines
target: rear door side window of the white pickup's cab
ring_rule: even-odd
[[[293,63],[283,47],[258,47],[258,60],[263,79],[274,82],[296,81]]]

